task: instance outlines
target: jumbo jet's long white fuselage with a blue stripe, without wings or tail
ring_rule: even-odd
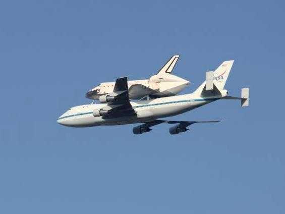
[[[225,96],[225,94],[220,96],[200,97],[197,96],[197,94],[192,93],[142,101],[131,101],[130,103],[136,112],[136,116],[116,117],[110,119],[93,116],[93,110],[104,109],[107,107],[107,103],[79,105],[64,113],[58,119],[58,123],[71,127],[144,123],[191,111],[199,106],[220,99],[223,96]]]

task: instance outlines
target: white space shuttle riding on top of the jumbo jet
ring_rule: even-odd
[[[175,55],[149,79],[128,81],[129,98],[141,99],[146,95],[151,98],[174,96],[181,92],[189,81],[175,76],[172,71],[177,63],[179,55]],[[113,92],[115,82],[103,82],[89,90],[85,97],[89,99],[104,100],[104,97]]]

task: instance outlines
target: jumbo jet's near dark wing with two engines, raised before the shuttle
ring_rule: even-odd
[[[136,115],[129,99],[127,77],[116,80],[111,95],[115,98],[108,102],[108,106],[111,109],[109,110],[109,114],[104,116],[104,118]]]

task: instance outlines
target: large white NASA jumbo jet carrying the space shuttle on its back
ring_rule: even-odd
[[[219,99],[238,99],[241,106],[249,105],[249,88],[243,88],[241,97],[229,96],[224,89],[234,61],[223,62],[214,72],[206,72],[206,80],[190,94],[139,101],[130,101],[127,77],[118,78],[106,103],[79,105],[58,118],[58,123],[69,127],[110,126],[143,123],[133,128],[134,134],[150,132],[150,127],[161,123],[176,124],[169,128],[170,134],[189,130],[195,123],[220,121],[169,121],[161,118],[179,115]]]

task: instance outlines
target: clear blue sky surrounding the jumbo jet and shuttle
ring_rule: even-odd
[[[1,1],[1,213],[284,213],[283,1]],[[168,125],[74,129],[56,119],[116,77],[172,55],[193,91],[235,60],[231,95]]]

